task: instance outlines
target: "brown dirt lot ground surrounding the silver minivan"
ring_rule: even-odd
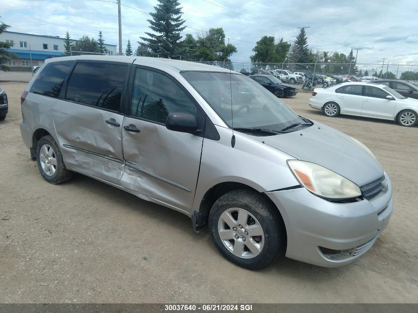
[[[309,93],[285,102],[368,145],[393,180],[395,208],[372,249],[342,268],[289,259],[259,271],[226,261],[207,229],[96,180],[39,174],[20,137],[22,83],[3,83],[0,122],[0,303],[417,302],[418,127],[325,118]],[[145,259],[145,260],[143,260]]]

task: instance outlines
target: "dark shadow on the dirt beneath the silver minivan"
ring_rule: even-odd
[[[213,257],[212,262],[221,263],[222,266],[225,267],[223,271],[249,271],[224,259],[213,245],[208,227],[206,226],[198,233],[194,232],[191,227],[191,220],[180,212],[142,200],[135,195],[81,174],[76,174],[74,179],[65,183],[65,185],[72,185],[77,189],[79,188],[83,191],[87,190],[96,195],[99,194],[104,202],[107,203],[108,207],[117,207],[119,212],[121,210],[134,211],[138,214],[139,218],[140,216],[145,215],[146,218],[155,220],[155,223],[159,224],[159,227],[162,227],[161,229],[164,229],[164,226],[173,227],[173,225],[175,225],[177,230],[184,237],[183,239],[189,240],[188,244],[186,241],[184,242],[186,245],[196,245],[198,247],[196,248],[196,253],[204,250],[205,254]],[[153,226],[150,227],[152,228]],[[129,231],[129,228],[126,228],[125,230]],[[133,230],[136,231],[137,229]],[[267,268],[252,272],[257,272],[257,274],[261,274],[261,276],[257,277],[264,277],[266,279],[271,279],[272,275],[285,275],[291,278],[297,278],[302,275],[303,279],[321,281],[328,280],[331,276],[336,277],[339,273],[345,272],[346,269],[344,268],[347,268],[347,266],[343,268],[322,268],[281,257],[277,258]]]

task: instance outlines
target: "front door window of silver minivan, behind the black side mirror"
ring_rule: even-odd
[[[131,115],[165,123],[169,113],[196,116],[196,106],[186,93],[167,76],[137,69],[132,90]]]

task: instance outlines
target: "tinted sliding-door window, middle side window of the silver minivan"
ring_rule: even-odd
[[[79,62],[68,81],[65,99],[119,111],[126,65]]]

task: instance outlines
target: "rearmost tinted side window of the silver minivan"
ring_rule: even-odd
[[[45,65],[31,88],[31,92],[57,98],[74,61],[52,62]]]

